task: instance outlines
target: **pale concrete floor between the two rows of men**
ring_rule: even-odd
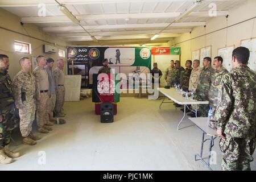
[[[121,98],[113,123],[100,123],[91,98],[65,102],[67,123],[53,126],[49,134],[36,133],[43,138],[35,146],[22,144],[19,131],[16,132],[13,138],[17,146],[12,143],[11,149],[22,156],[14,163],[0,164],[0,171],[208,170],[201,161],[194,160],[200,151],[201,130],[184,122],[183,129],[177,131],[183,113],[172,104],[163,104],[159,110],[160,102]],[[212,168],[220,170],[219,139],[215,141],[213,151],[217,156]],[[255,160],[251,169],[256,170]]]

